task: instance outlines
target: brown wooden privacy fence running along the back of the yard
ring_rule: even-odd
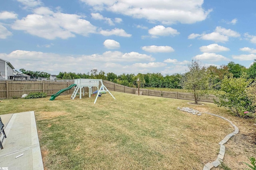
[[[130,88],[120,84],[116,84],[107,80],[103,80],[104,85],[109,91],[122,92],[135,94],[138,88]],[[29,94],[32,92],[45,92],[48,96],[57,93],[59,90],[67,88],[70,84],[74,84],[73,80],[55,82],[55,81],[11,81],[3,80],[0,81],[0,99],[20,97],[22,94]],[[85,92],[88,92],[88,88],[84,88]],[[174,99],[184,99],[184,100],[194,100],[193,96],[185,92],[168,92],[160,90],[149,90],[140,88],[142,95],[146,96],[156,96],[163,98],[174,98]],[[74,89],[67,90],[62,94],[72,94]],[[214,95],[203,96],[200,102],[213,102],[213,99],[217,100]]]

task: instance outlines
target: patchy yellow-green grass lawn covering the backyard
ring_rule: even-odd
[[[208,114],[180,111],[191,107],[230,119],[240,129],[225,145],[224,165],[247,168],[247,156],[256,156],[252,120],[239,119],[223,108],[203,106],[151,96],[111,92],[70,100],[71,95],[50,101],[8,99],[0,103],[1,114],[34,111],[44,167],[58,169],[168,169],[202,170],[214,161],[218,143],[234,128]],[[215,168],[218,169],[218,168]]]

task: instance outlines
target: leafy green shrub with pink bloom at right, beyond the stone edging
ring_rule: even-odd
[[[248,113],[254,113],[255,104],[247,92],[252,79],[247,80],[246,77],[246,73],[240,78],[225,76],[220,84],[222,93],[217,95],[219,100],[214,100],[214,103],[229,109],[238,117],[246,117]]]

